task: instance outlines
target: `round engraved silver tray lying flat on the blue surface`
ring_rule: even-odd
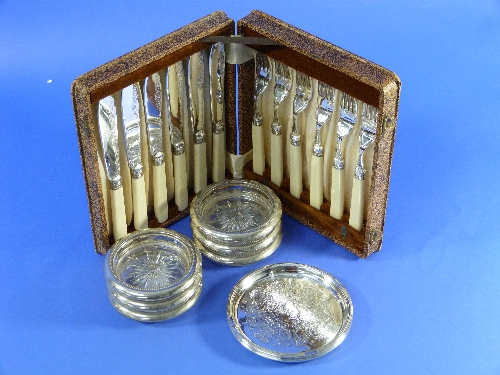
[[[308,361],[340,345],[351,327],[347,290],[318,268],[278,263],[244,276],[227,304],[228,323],[252,352],[283,362]]]

